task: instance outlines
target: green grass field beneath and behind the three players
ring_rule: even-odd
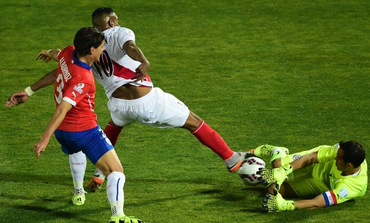
[[[71,44],[101,6],[111,6],[121,26],[134,31],[154,85],[185,102],[231,149],[268,143],[297,152],[357,140],[370,152],[370,1],[1,1],[3,105],[56,68],[36,61],[39,51]],[[35,158],[33,144],[55,111],[53,90],[0,107],[0,222],[108,222],[105,188],[87,194],[82,206],[70,201],[68,156],[54,137]],[[102,128],[110,120],[107,100],[97,85]],[[263,213],[265,187],[243,186],[186,130],[134,124],[115,148],[126,175],[125,213],[146,223],[367,222],[370,216],[369,190],[337,206]],[[86,184],[93,170],[89,163]]]

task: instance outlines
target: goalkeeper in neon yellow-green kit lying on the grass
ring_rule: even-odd
[[[283,211],[325,207],[364,196],[368,184],[365,149],[355,141],[288,155],[289,150],[269,145],[252,150],[258,157],[271,157],[274,169],[258,174],[268,194],[262,207]],[[284,198],[312,198],[287,201]]]

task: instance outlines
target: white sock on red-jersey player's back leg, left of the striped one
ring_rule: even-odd
[[[76,152],[69,155],[70,167],[74,188],[82,188],[86,170],[86,155],[83,152]]]

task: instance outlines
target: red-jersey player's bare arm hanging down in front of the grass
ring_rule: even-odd
[[[40,157],[40,153],[45,151],[46,146],[49,143],[50,138],[54,134],[55,130],[58,128],[60,123],[62,123],[66,113],[72,109],[72,105],[64,100],[60,102],[59,106],[56,108],[54,115],[49,121],[48,126],[46,127],[44,133],[41,136],[40,141],[35,143],[34,151],[36,153],[36,157]]]

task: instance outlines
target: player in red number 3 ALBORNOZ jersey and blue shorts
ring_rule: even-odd
[[[38,57],[50,56],[58,61],[54,88],[56,111],[40,141],[35,143],[34,150],[39,158],[54,133],[62,150],[70,155],[74,179],[73,204],[82,205],[85,202],[82,182],[87,156],[108,176],[107,196],[112,212],[110,223],[142,223],[123,212],[123,167],[111,142],[97,124],[94,113],[95,84],[91,66],[104,50],[104,37],[104,33],[97,28],[84,27],[77,31],[73,46],[39,54]]]

